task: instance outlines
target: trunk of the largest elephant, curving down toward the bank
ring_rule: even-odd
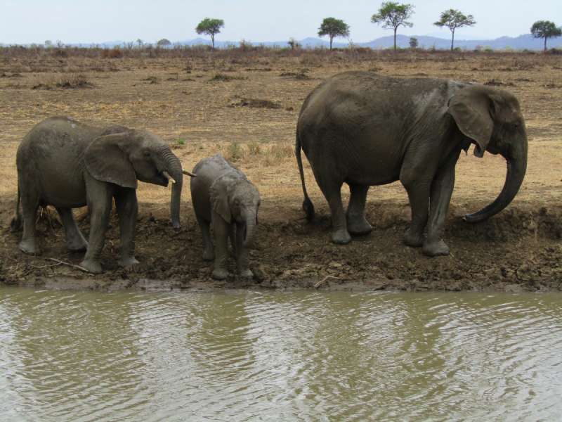
[[[507,205],[511,203],[511,200],[515,198],[521,184],[523,183],[525,172],[527,171],[526,137],[520,146],[512,146],[504,157],[507,160],[507,174],[502,192],[499,193],[499,196],[494,200],[494,202],[486,205],[480,211],[474,212],[473,214],[466,214],[464,216],[464,220],[466,222],[481,222],[489,217],[492,217],[492,215],[497,214],[507,207]]]

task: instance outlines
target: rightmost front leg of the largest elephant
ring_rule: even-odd
[[[430,257],[449,255],[449,247],[443,241],[443,234],[452,190],[455,187],[455,164],[456,160],[451,165],[447,165],[431,183],[427,238],[421,248],[424,255]]]

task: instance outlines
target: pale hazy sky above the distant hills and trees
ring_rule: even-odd
[[[469,37],[494,39],[528,34],[532,23],[551,20],[562,25],[561,0],[471,0],[417,1],[414,27],[399,34],[425,35],[446,32],[432,25],[442,11],[457,8],[471,14],[474,27],[457,30]],[[166,38],[185,41],[198,37],[197,23],[206,17],[223,19],[218,41],[287,41],[318,38],[323,18],[343,19],[351,27],[353,42],[366,42],[392,35],[392,30],[370,22],[381,1],[363,0],[0,0],[0,42],[42,44],[46,39],[64,44],[102,44],[105,41],[155,43]],[[209,38],[209,37],[206,37]],[[327,39],[327,37],[325,37]],[[344,39],[335,39],[344,41]]]

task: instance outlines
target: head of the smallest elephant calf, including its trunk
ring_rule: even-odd
[[[226,222],[244,224],[243,246],[251,248],[258,224],[258,188],[247,179],[226,175],[211,184],[209,196],[214,212],[221,215]]]

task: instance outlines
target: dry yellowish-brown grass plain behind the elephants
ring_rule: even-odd
[[[120,123],[160,134],[188,170],[202,158],[220,153],[258,186],[264,203],[300,206],[294,129],[302,101],[326,77],[367,70],[398,77],[492,82],[514,92],[530,141],[528,172],[516,200],[562,202],[562,56],[194,49],[176,51],[176,56],[164,52],[162,57],[124,51],[117,59],[102,58],[101,51],[98,56],[73,56],[74,51],[68,51],[67,56],[55,57],[40,51],[19,56],[11,51],[11,56],[0,49],[4,75],[0,93],[7,99],[0,103],[0,195],[15,194],[15,150],[22,136],[44,118],[65,114],[87,124]],[[93,89],[63,89],[60,81],[72,75],[82,75]],[[151,83],[153,79],[159,83]],[[50,82],[51,89],[32,89],[41,81]],[[178,140],[184,144],[178,145]],[[313,202],[327,207],[306,160],[305,167]],[[474,203],[495,198],[505,171],[501,157],[463,154],[452,204],[472,210]],[[166,204],[169,191],[141,184],[138,196],[141,202]],[[183,199],[190,203],[188,189]],[[372,188],[369,200],[407,204],[398,183]]]

